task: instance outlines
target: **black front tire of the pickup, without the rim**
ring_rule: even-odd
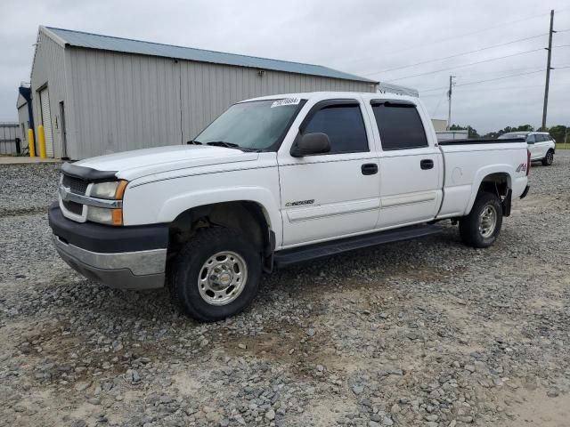
[[[209,274],[208,267],[202,270],[205,263],[224,251],[238,254],[241,261],[245,262],[247,278],[240,294],[232,302],[212,305],[205,299],[208,295],[203,297],[200,294],[199,277],[204,270]],[[214,322],[239,313],[252,302],[259,288],[261,269],[260,254],[240,233],[221,227],[203,229],[169,263],[168,288],[173,302],[186,315],[201,322]]]

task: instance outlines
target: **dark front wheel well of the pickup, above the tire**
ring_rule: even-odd
[[[237,230],[260,254],[273,250],[270,224],[263,206],[251,201],[235,201],[192,207],[179,214],[169,227],[168,254],[174,255],[199,229],[225,227]]]

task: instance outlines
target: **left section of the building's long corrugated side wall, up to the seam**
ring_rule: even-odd
[[[174,60],[77,48],[69,52],[70,158],[180,143],[180,73]]]

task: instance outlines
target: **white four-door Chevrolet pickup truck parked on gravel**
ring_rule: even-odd
[[[427,236],[440,220],[490,246],[529,166],[524,140],[438,143],[415,98],[275,95],[232,105],[187,145],[64,164],[49,221],[86,278],[168,286],[213,321],[243,310],[264,271]]]

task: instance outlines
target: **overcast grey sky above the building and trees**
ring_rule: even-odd
[[[547,125],[570,125],[567,0],[2,0],[0,121],[17,120],[18,86],[46,25],[338,68],[418,89],[434,118],[447,117],[452,75],[452,123],[538,127],[550,9],[558,69]]]

